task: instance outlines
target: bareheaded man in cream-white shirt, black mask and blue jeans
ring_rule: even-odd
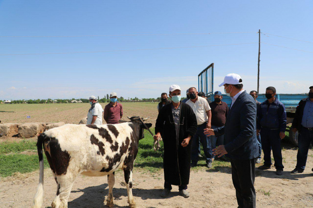
[[[186,102],[193,112],[196,114],[197,118],[197,133],[192,138],[191,145],[191,167],[197,166],[198,163],[198,148],[199,142],[198,137],[200,137],[200,143],[203,146],[204,155],[206,157],[207,167],[212,167],[212,148],[210,137],[204,134],[205,128],[211,128],[211,108],[208,101],[198,96],[197,89],[195,87],[190,87],[188,90],[190,99]]]

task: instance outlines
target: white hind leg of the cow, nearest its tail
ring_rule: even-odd
[[[77,175],[68,171],[65,175],[56,176],[57,194],[52,201],[52,208],[67,208],[69,194]]]

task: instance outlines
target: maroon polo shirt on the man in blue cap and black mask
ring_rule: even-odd
[[[211,107],[212,113],[211,125],[218,127],[224,126],[226,122],[226,116],[229,110],[227,103],[222,101],[221,104],[217,104],[213,101],[209,105]]]

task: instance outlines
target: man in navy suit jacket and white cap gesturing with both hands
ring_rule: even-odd
[[[225,126],[204,129],[210,135],[224,134],[224,145],[213,149],[214,155],[226,155],[232,166],[233,185],[239,207],[256,207],[254,189],[255,163],[259,156],[256,137],[256,103],[244,89],[238,74],[228,74],[219,87],[224,86],[232,99]]]

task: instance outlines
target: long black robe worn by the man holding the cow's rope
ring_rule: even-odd
[[[182,147],[181,143],[188,135],[193,137],[197,131],[197,119],[192,108],[186,103],[181,102],[180,105],[182,106],[178,138],[176,138],[172,103],[162,107],[155,127],[155,132],[161,133],[164,143],[164,180],[176,186],[189,183],[192,139],[186,147]]]

